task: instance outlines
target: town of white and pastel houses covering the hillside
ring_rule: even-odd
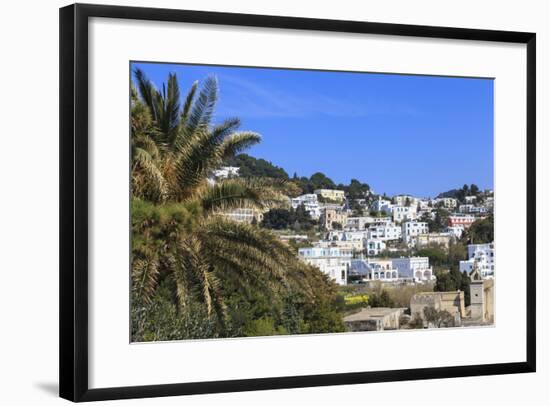
[[[211,182],[238,177],[239,170],[222,167]],[[436,197],[389,197],[365,185],[358,194],[334,187],[287,198],[275,209],[224,215],[272,229],[338,284],[349,331],[494,323],[492,190],[464,185]],[[476,242],[472,226],[487,228],[488,221],[491,237]],[[460,281],[444,282],[453,278]],[[404,300],[396,303],[392,294]]]

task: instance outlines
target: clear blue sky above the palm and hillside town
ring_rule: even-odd
[[[239,117],[248,153],[290,176],[356,178],[377,193],[434,196],[493,188],[491,79],[134,63],[160,87],[218,78],[215,121]]]

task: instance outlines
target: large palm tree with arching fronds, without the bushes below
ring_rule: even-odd
[[[200,90],[195,82],[181,106],[175,75],[169,75],[162,91],[141,70],[135,71],[135,77],[131,111],[135,302],[151,303],[161,281],[167,281],[180,312],[199,303],[223,330],[228,292],[245,296],[260,292],[278,305],[281,292],[292,291],[304,303],[320,293],[334,293],[324,275],[319,277],[318,270],[298,261],[271,232],[224,215],[236,208],[281,205],[294,184],[266,178],[209,182],[225,159],[261,139],[256,133],[237,131],[236,118],[212,124],[216,79],[207,78]]]

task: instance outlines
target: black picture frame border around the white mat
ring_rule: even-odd
[[[88,386],[88,19],[414,36],[526,44],[527,324],[524,362],[90,389]],[[527,32],[74,4],[60,9],[60,396],[75,402],[535,372],[536,35]]]

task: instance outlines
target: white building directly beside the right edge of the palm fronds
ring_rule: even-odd
[[[319,268],[339,285],[347,283],[351,251],[337,247],[310,247],[300,248],[298,256],[304,262]]]

